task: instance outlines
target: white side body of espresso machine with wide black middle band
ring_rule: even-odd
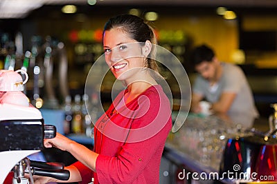
[[[12,168],[43,148],[44,121],[32,106],[0,104],[0,183]]]

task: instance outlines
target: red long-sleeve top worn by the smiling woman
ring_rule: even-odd
[[[94,184],[159,183],[161,154],[172,127],[170,102],[161,86],[153,85],[133,101],[115,108],[125,92],[118,94],[96,122],[96,172],[74,163],[81,183],[90,183],[91,177]]]

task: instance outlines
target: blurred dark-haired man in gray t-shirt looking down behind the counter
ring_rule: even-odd
[[[259,115],[251,88],[240,67],[220,62],[207,45],[195,48],[191,59],[198,73],[193,84],[192,112],[202,112],[200,102],[207,101],[213,113]]]

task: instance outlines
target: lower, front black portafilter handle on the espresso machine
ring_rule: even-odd
[[[37,176],[48,176],[62,181],[67,181],[70,176],[69,170],[44,170],[39,168],[33,168],[32,174]]]

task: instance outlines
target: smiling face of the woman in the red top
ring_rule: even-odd
[[[105,31],[103,46],[106,63],[116,79],[136,79],[145,63],[141,45],[119,28],[112,28]]]

